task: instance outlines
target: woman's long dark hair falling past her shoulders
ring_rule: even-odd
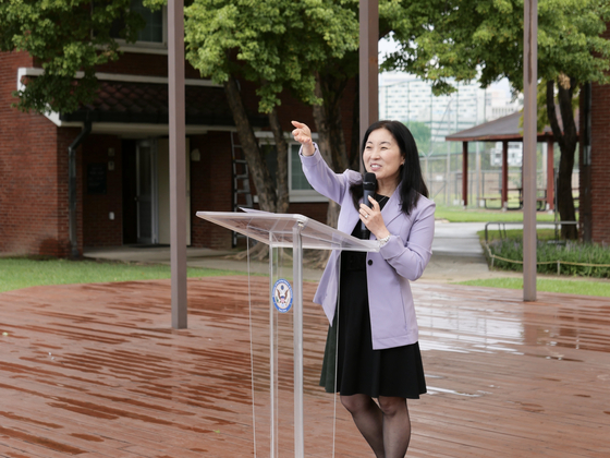
[[[378,129],[386,129],[392,134],[396,141],[401,155],[404,158],[404,165],[400,167],[399,182],[401,183],[400,200],[401,207],[405,215],[410,215],[411,210],[417,205],[419,194],[427,197],[428,188],[424,182],[422,176],[422,167],[419,166],[419,154],[417,153],[417,145],[411,131],[400,121],[377,121],[374,122],[364,134],[363,144],[361,148],[361,157],[364,155],[366,142],[373,131]],[[363,197],[362,181],[353,183],[350,186],[354,206],[359,208],[359,200]]]

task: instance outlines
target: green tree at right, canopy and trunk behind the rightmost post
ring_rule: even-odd
[[[392,29],[401,48],[383,64],[432,82],[437,94],[454,91],[451,79],[477,80],[483,87],[508,77],[523,87],[523,0],[431,0],[404,9],[391,2]],[[588,82],[609,81],[610,21],[607,0],[539,0],[538,75],[546,82],[546,111],[561,157],[558,207],[574,220],[571,177],[576,148],[573,97]],[[558,107],[563,129],[560,128]],[[564,238],[577,237],[564,226]]]

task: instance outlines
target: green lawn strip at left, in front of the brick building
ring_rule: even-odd
[[[188,268],[188,277],[244,275],[239,272]],[[38,285],[94,284],[171,278],[168,265],[95,261],[0,258],[0,292]]]

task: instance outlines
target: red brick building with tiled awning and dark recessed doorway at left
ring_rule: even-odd
[[[70,254],[69,146],[87,120],[90,133],[76,149],[78,252],[169,243],[167,46],[138,41],[124,51],[119,61],[97,69],[101,87],[94,104],[46,116],[11,107],[16,101],[11,93],[22,77],[40,74],[35,60],[23,52],[0,53],[0,254]],[[188,64],[186,79],[187,242],[227,249],[230,232],[194,215],[232,210],[232,154],[239,137],[222,87],[202,80]],[[254,87],[245,82],[241,87],[257,136],[272,149]],[[347,142],[352,109],[347,100]],[[286,133],[292,119],[314,125],[312,108],[288,95],[279,114]],[[303,183],[297,146],[291,144],[290,152],[289,212],[324,221],[326,200]]]

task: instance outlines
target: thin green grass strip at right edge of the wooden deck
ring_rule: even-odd
[[[523,278],[488,278],[485,280],[461,281],[456,285],[523,289]],[[546,292],[562,292],[565,294],[610,298],[610,281],[556,280],[552,278],[537,278],[536,289],[538,291]]]

